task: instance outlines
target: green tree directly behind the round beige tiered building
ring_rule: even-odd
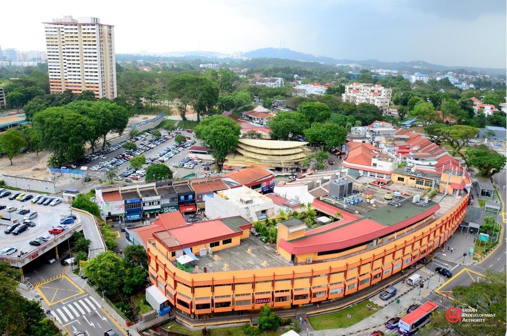
[[[289,140],[289,136],[303,135],[309,128],[308,119],[301,113],[278,112],[268,121],[271,136],[277,140]]]

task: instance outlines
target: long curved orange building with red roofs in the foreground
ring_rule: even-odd
[[[463,220],[467,203],[464,196],[445,210],[410,201],[363,215],[340,210],[338,221],[309,231],[297,220],[285,221],[278,224],[276,250],[249,237],[249,223],[241,217],[155,232],[148,239],[149,279],[172,305],[193,316],[334,299],[401,272],[441,246]],[[323,200],[313,207],[337,213]],[[211,245],[211,255],[178,268],[174,258],[182,247],[195,254],[209,252],[203,248]]]

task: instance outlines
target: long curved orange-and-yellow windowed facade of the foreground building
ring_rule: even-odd
[[[312,264],[192,274],[176,268],[164,256],[165,250],[161,252],[148,244],[149,279],[155,285],[157,285],[158,278],[165,279],[167,282],[167,285],[165,285],[166,292],[171,290],[168,286],[173,287],[175,291],[175,297],[167,295],[169,301],[173,303],[175,298],[175,305],[178,309],[196,314],[259,309],[262,305],[255,304],[256,298],[269,298],[271,307],[288,307],[292,304],[302,305],[336,298],[361,290],[392,274],[401,272],[403,268],[408,267],[430,251],[441,246],[463,220],[467,203],[468,197],[463,197],[459,204],[446,213],[445,216],[429,222],[429,224],[420,224],[420,228],[411,232],[408,236],[391,241],[376,249],[351,255],[348,258]],[[149,242],[151,241],[153,239],[149,240]],[[408,262],[404,262],[404,260]],[[394,266],[397,267],[394,268]],[[364,279],[368,280],[366,284],[359,285],[359,281]],[[226,284],[227,286],[215,286],[217,284]],[[313,297],[313,293],[320,295],[323,289],[325,295]],[[290,295],[291,300],[286,303],[275,304],[274,299],[276,295],[279,295],[279,292],[275,291],[282,290],[288,291],[289,294],[284,293],[283,295]],[[298,295],[308,293],[308,297],[294,301],[295,290],[299,290]],[[268,292],[268,294],[260,294],[260,292]],[[253,295],[237,296],[248,293],[253,293]],[[190,302],[189,308],[178,303],[179,294],[190,297],[190,299],[187,299],[182,296],[181,301],[179,301]],[[222,298],[218,298],[218,296],[223,295],[230,296],[231,305],[227,309],[211,307],[209,310],[195,311],[193,301],[195,298],[214,297],[214,299],[220,300]],[[236,308],[235,300],[247,299],[251,299],[250,305]]]

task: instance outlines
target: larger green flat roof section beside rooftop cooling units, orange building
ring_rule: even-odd
[[[427,206],[421,207],[413,204],[410,200],[406,200],[402,203],[401,207],[395,208],[387,205],[379,209],[370,210],[364,215],[382,225],[392,225],[419,215],[434,205],[436,203],[430,201]]]

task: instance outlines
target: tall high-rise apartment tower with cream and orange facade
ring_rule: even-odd
[[[51,92],[93,91],[113,99],[116,91],[114,26],[94,17],[43,22]]]

